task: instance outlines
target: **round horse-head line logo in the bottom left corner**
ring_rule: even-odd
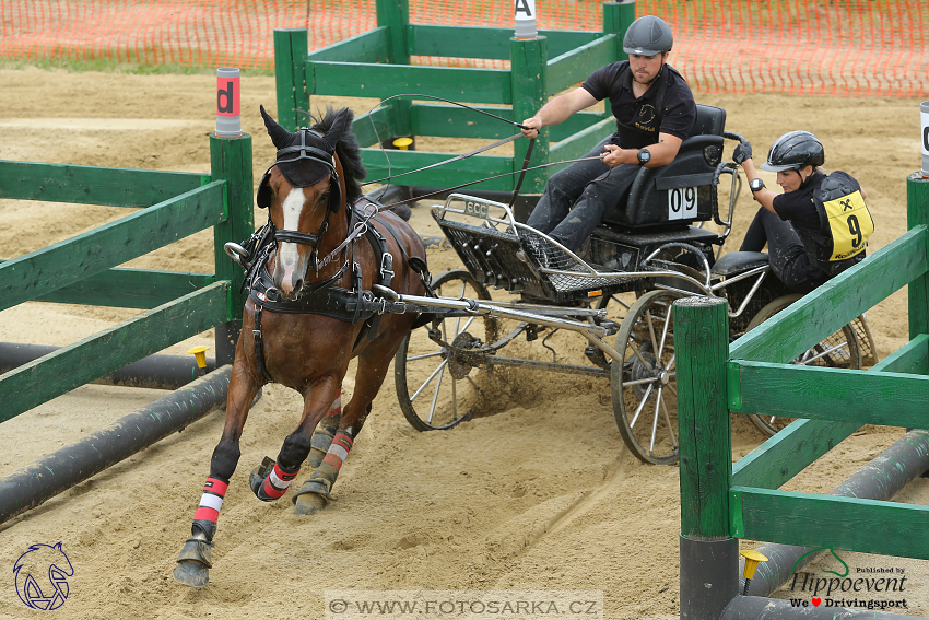
[[[71,560],[58,545],[33,545],[13,564],[16,594],[26,607],[50,611],[68,599]]]

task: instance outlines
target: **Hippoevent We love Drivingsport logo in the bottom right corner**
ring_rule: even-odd
[[[835,575],[824,577],[816,573],[796,572],[797,564],[812,553],[828,550],[833,558],[842,563],[843,570],[830,571],[820,569],[823,573]],[[810,599],[790,598],[793,607],[851,607],[866,609],[908,608],[906,598],[905,569],[897,566],[865,566],[854,571],[838,557],[832,547],[820,547],[800,555],[790,569],[793,580],[790,582],[791,593],[803,593]],[[889,599],[890,597],[890,599]]]

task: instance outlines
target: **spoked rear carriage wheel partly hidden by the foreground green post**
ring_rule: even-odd
[[[623,441],[645,463],[678,460],[678,389],[671,304],[683,294],[650,291],[633,304],[616,337],[623,363],[611,366],[613,414]]]

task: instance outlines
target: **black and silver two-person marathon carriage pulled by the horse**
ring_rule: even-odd
[[[736,164],[722,162],[726,112],[697,105],[697,118],[677,159],[643,168],[628,199],[608,213],[589,245],[573,253],[516,221],[506,204],[452,194],[432,214],[467,270],[438,273],[438,299],[399,295],[395,302],[435,308],[395,358],[400,407],[418,430],[450,429],[486,397],[486,375],[504,367],[609,378],[613,413],[639,459],[678,459],[674,325],[671,305],[684,295],[729,303],[734,340],[800,295],[772,273],[761,253],[721,255],[741,188]],[[727,219],[717,186],[731,175]],[[720,232],[703,226],[714,221]],[[584,363],[557,360],[546,340],[578,334]],[[551,360],[508,356],[517,340],[540,340]],[[519,348],[521,349],[521,348]],[[538,358],[538,355],[536,355]],[[875,363],[863,315],[795,363],[858,369]],[[790,419],[752,417],[774,434]]]

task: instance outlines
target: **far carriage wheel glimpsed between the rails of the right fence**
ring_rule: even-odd
[[[745,331],[751,331],[763,321],[773,317],[802,295],[792,294],[777,297],[752,318]],[[844,326],[842,329],[832,336],[824,338],[820,343],[813,346],[804,353],[797,355],[791,364],[804,364],[810,366],[827,366],[832,369],[851,369],[858,370],[861,367],[861,347],[858,342],[858,337],[855,334],[855,328],[851,324]],[[762,430],[766,435],[774,435],[796,418],[783,418],[780,416],[749,416],[752,422]]]

